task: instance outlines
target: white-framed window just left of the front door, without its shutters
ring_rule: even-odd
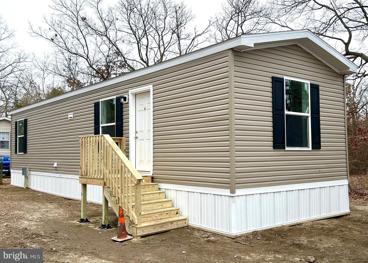
[[[100,101],[100,134],[115,137],[115,98]]]

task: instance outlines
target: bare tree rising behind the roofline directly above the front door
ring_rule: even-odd
[[[138,52],[136,62],[144,67],[196,49],[211,25],[188,31],[195,16],[183,2],[171,0],[120,0],[117,13],[123,34]]]

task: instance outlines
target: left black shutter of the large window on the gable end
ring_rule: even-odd
[[[272,77],[273,149],[285,149],[284,79]]]

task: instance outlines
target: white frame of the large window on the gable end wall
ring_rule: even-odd
[[[299,81],[308,83],[308,111],[309,113],[300,113],[300,112],[292,112],[292,111],[286,111],[286,85],[285,80],[290,79],[293,81]],[[285,112],[285,150],[304,150],[309,151],[312,150],[312,129],[311,129],[311,82],[307,81],[305,79],[298,79],[293,77],[285,77],[284,76],[284,112]],[[308,147],[287,147],[286,142],[286,115],[298,115],[298,116],[307,116],[308,117]]]

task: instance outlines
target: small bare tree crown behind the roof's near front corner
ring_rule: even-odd
[[[263,22],[266,10],[257,0],[227,0],[222,12],[212,18],[212,40],[221,42],[238,35],[269,31],[270,25]]]

